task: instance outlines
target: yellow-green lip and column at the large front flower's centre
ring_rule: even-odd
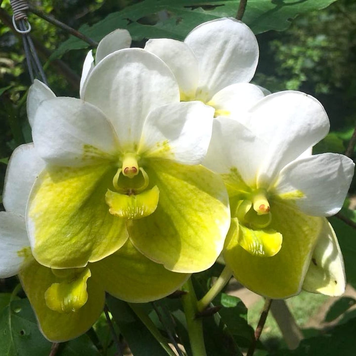
[[[149,178],[139,160],[134,153],[123,156],[122,165],[113,178],[116,191],[108,189],[105,194],[110,214],[134,220],[151,215],[156,210],[159,189],[157,185],[147,189]]]

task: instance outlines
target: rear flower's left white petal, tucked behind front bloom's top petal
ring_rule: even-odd
[[[160,57],[175,75],[181,100],[194,100],[199,69],[194,53],[183,42],[171,39],[148,40],[145,50]]]

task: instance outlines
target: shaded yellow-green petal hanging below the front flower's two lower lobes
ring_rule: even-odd
[[[105,290],[116,298],[146,303],[163,298],[177,290],[189,274],[175,273],[152,262],[128,240],[111,256],[90,265],[100,275]]]

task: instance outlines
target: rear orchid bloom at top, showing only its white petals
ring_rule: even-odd
[[[238,118],[265,95],[264,89],[249,84],[259,48],[255,35],[241,21],[208,21],[194,28],[184,42],[153,39],[145,50],[170,67],[182,101],[200,100],[211,105],[216,117]]]

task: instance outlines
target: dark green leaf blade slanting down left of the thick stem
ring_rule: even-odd
[[[111,296],[106,301],[134,356],[168,355],[126,302]]]

